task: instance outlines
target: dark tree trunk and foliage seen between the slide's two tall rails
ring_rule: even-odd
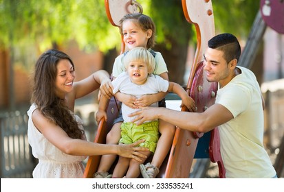
[[[182,1],[151,1],[151,17],[157,26],[157,45],[166,61],[169,79],[184,84],[189,40],[195,39],[186,21]]]

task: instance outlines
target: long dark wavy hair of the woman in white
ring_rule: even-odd
[[[39,57],[34,69],[31,103],[36,104],[41,113],[65,130],[69,137],[82,139],[84,132],[80,130],[74,115],[67,108],[65,99],[55,94],[56,67],[61,60],[69,60],[74,67],[71,58],[62,51],[50,49]]]

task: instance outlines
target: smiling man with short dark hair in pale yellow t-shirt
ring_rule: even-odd
[[[263,98],[252,71],[237,66],[241,47],[232,34],[208,41],[204,71],[208,82],[218,82],[215,104],[205,112],[144,108],[133,112],[135,123],[163,119],[192,132],[208,132],[219,126],[221,156],[226,178],[276,178],[263,147]]]

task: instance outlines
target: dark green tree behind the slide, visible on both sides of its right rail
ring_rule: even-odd
[[[259,1],[212,0],[212,7],[216,34],[229,32],[246,40],[259,10]],[[188,43],[196,43],[195,29],[186,22],[181,1],[153,0],[149,9],[149,15],[157,25],[158,38],[155,48],[162,52],[166,60],[170,79],[182,84]]]

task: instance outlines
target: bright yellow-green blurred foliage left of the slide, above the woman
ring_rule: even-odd
[[[0,45],[28,40],[40,49],[76,40],[81,48],[113,48],[120,42],[109,24],[102,0],[0,1]]]

